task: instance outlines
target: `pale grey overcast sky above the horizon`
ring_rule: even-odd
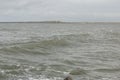
[[[120,21],[120,0],[0,0],[0,22]]]

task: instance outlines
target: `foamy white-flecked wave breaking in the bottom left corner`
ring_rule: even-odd
[[[63,80],[61,77],[48,78],[42,73],[46,72],[45,65],[0,65],[0,79],[2,80]]]

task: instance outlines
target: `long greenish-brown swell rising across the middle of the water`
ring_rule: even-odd
[[[85,43],[89,34],[70,34],[70,35],[56,35],[43,39],[32,39],[28,42],[13,43],[3,46],[0,51],[5,53],[29,53],[49,55],[57,48],[65,48],[75,46],[78,42]]]

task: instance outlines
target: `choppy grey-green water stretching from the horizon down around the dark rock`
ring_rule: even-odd
[[[120,80],[120,23],[0,23],[0,80]]]

